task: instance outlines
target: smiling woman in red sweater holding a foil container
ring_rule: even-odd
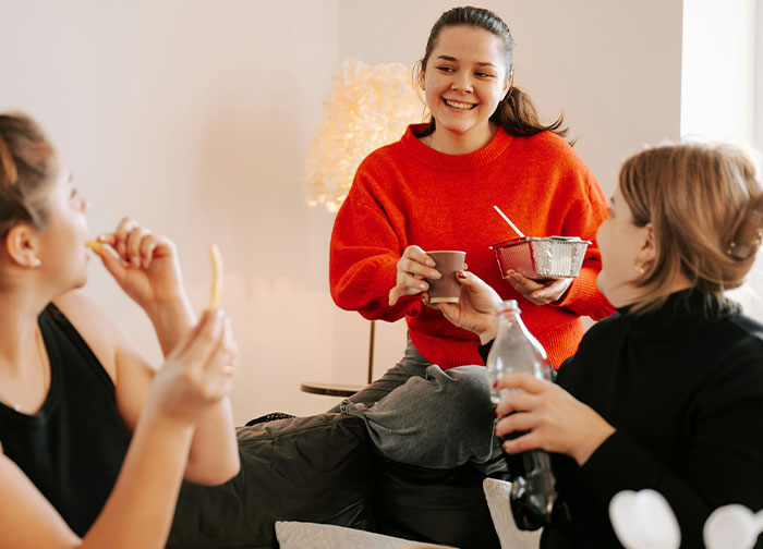
[[[405,356],[355,394],[373,403],[423,376],[429,364],[481,364],[477,339],[424,306],[424,278],[439,278],[427,249],[463,249],[470,270],[517,298],[554,366],[572,355],[581,316],[614,309],[597,291],[600,254],[589,247],[580,276],[536,281],[500,278],[488,246],[514,236],[498,205],[531,236],[594,239],[607,213],[591,171],[562,139],[561,118],[544,126],[512,86],[512,41],[493,12],[455,8],[435,23],[419,84],[432,120],[372,152],[360,166],[331,234],[331,296],[368,319],[405,317]]]

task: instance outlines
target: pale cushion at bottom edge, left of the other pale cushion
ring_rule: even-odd
[[[419,544],[382,534],[372,534],[342,526],[302,522],[277,522],[276,536],[280,549],[395,549],[444,548],[445,546]]]

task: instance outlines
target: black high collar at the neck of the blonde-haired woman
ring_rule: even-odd
[[[711,294],[694,289],[671,293],[656,310],[635,315],[630,306],[617,310],[633,339],[664,341],[679,338],[701,326],[739,314],[732,301],[718,303]]]

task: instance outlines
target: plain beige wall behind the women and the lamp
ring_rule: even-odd
[[[565,110],[605,190],[621,158],[678,137],[681,2],[486,1],[517,40],[518,84]],[[242,368],[238,422],[316,413],[302,380],[362,382],[367,322],[328,295],[331,215],[299,180],[330,74],[344,57],[412,63],[435,0],[0,0],[0,109],[38,118],[94,206],[94,234],[131,215],[172,237],[196,309],[207,246],[227,265],[223,305]],[[159,359],[150,327],[99,265],[86,292]],[[380,326],[380,374],[401,353]]]

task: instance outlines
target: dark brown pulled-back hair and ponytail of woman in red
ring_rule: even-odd
[[[504,62],[506,64],[506,77],[512,74],[513,65],[513,40],[509,27],[504,21],[489,10],[483,8],[473,8],[465,5],[462,8],[452,8],[439,16],[437,22],[429,32],[429,38],[426,41],[426,50],[424,57],[416,63],[414,71],[414,83],[421,87],[421,73],[426,70],[426,63],[429,60],[432,50],[437,44],[437,38],[445,27],[453,26],[473,26],[482,28],[497,36],[504,42]],[[416,74],[417,73],[417,74]],[[544,125],[537,115],[537,110],[533,105],[530,96],[516,86],[511,86],[509,93],[502,101],[498,103],[496,111],[491,117],[491,120],[504,126],[510,135],[529,136],[541,132],[554,132],[560,137],[566,137],[568,127],[565,126],[564,115],[553,122]],[[429,126],[420,134],[420,136],[428,135],[435,131],[435,119],[429,120]],[[570,142],[572,145],[574,142]]]

